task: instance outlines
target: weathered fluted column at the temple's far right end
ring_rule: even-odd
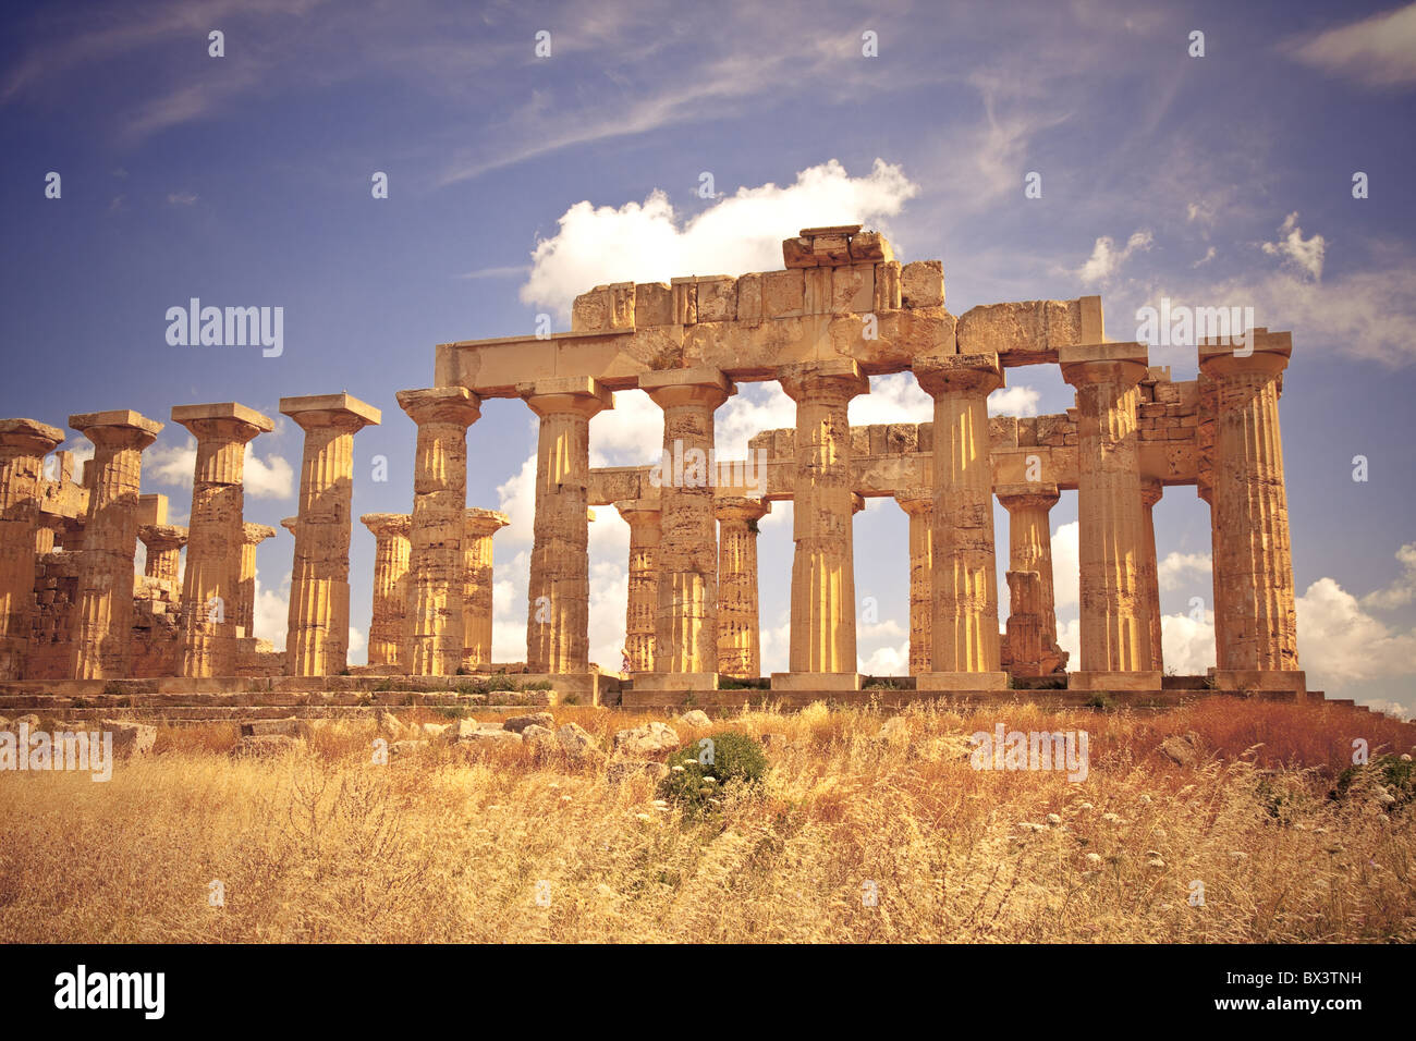
[[[1289,333],[1255,329],[1249,348],[1202,344],[1214,381],[1212,472],[1216,686],[1304,690],[1279,394],[1293,351]]]

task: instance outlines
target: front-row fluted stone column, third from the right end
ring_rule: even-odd
[[[933,653],[920,690],[998,690],[998,576],[993,541],[988,395],[1003,385],[997,354],[919,360],[935,399]]]

